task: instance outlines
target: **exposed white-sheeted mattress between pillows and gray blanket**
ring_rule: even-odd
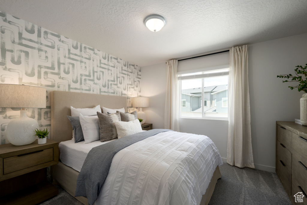
[[[99,145],[114,141],[117,139],[112,139],[107,142],[100,142],[100,140],[84,144],[84,141],[75,143],[75,141],[68,140],[64,142],[60,142],[60,160],[63,164],[68,167],[72,167],[76,171],[81,171],[84,160],[88,154],[88,152],[93,148]]]

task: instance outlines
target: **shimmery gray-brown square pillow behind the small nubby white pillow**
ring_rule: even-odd
[[[117,131],[114,123],[121,121],[119,111],[109,115],[97,112],[97,116],[100,128],[100,141],[105,142],[117,138]]]

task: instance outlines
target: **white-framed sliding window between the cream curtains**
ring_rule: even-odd
[[[180,117],[228,119],[228,77],[229,68],[178,72]]]

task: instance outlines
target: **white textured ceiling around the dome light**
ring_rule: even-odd
[[[0,10],[138,66],[307,33],[307,0],[0,0]],[[149,14],[166,25],[151,32]]]

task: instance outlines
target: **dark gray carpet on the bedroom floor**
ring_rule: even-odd
[[[223,164],[222,178],[216,183],[209,205],[220,204],[278,204],[291,201],[275,173]],[[77,199],[57,186],[59,194],[41,205],[82,205]]]

